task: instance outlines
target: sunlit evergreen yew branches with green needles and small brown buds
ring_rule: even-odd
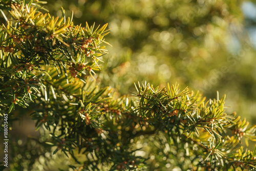
[[[41,134],[23,147],[13,140],[11,170],[256,169],[256,146],[247,149],[256,125],[225,113],[225,96],[138,82],[133,97],[120,97],[94,80],[108,25],[74,25],[41,4],[0,2],[0,132],[4,114],[11,126],[26,109]],[[52,167],[63,154],[68,162]]]

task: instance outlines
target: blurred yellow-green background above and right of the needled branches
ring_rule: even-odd
[[[201,91],[207,98],[227,95],[227,112],[256,123],[256,7],[249,1],[74,0],[48,1],[52,15],[61,7],[74,23],[109,23],[109,54],[98,80],[120,95],[133,82]]]

